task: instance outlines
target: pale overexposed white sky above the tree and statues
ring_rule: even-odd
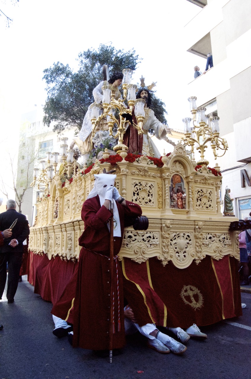
[[[78,53],[100,43],[136,50],[142,60],[132,82],[141,75],[146,84],[157,81],[169,127],[183,129],[181,120],[190,115],[187,98],[196,96],[187,93],[187,83],[194,66],[206,67],[206,60],[186,52],[183,43],[184,25],[198,6],[186,0],[20,0],[16,6],[0,1],[0,9],[13,19],[6,28],[0,17],[1,155],[6,147],[15,153],[21,114],[45,102],[43,70],[57,61],[77,70]]]

